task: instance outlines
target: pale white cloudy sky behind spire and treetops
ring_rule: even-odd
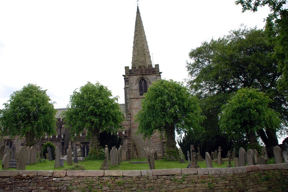
[[[241,23],[264,27],[268,7],[241,12],[233,0],[140,0],[154,64],[183,81],[188,53]],[[124,67],[132,61],[136,0],[0,1],[0,109],[28,83],[65,108],[76,88],[99,81],[124,103]]]

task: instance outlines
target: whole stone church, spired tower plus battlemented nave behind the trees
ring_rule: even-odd
[[[123,160],[129,160],[133,158],[145,157],[144,148],[154,149],[157,151],[158,158],[162,158],[165,154],[166,139],[163,133],[155,132],[150,140],[143,140],[141,135],[137,135],[138,123],[135,123],[135,115],[141,109],[141,98],[144,97],[144,93],[147,92],[149,86],[153,81],[161,79],[161,72],[159,71],[159,65],[152,65],[151,56],[148,49],[147,39],[139,11],[137,6],[133,52],[132,52],[132,66],[125,66],[124,77],[124,96],[125,103],[120,104],[121,111],[123,113],[125,121],[122,123],[124,127],[123,131],[118,132],[118,136],[123,140],[123,153],[128,151],[128,159],[124,155]],[[71,134],[69,128],[65,128],[63,117],[61,117],[62,111],[66,109],[57,109],[57,122],[56,122],[56,135],[44,136],[40,140],[36,141],[36,149],[39,152],[45,142],[52,142],[56,147],[60,147],[63,155],[66,155],[68,148],[72,149],[76,144],[78,149],[81,149],[81,154],[78,156],[87,157],[90,140],[86,138],[86,133],[83,132],[80,135],[75,135],[75,140],[71,140]],[[162,136],[161,136],[162,134]],[[21,146],[25,146],[25,140],[18,140],[18,138],[2,138],[0,145],[10,146],[15,144],[18,149]]]

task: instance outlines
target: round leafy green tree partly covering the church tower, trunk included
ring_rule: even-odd
[[[165,132],[167,159],[178,158],[175,131],[179,135],[202,131],[199,123],[204,116],[200,115],[198,99],[182,83],[173,80],[153,82],[141,104],[142,109],[136,115],[138,132],[143,139],[150,139],[156,130]]]

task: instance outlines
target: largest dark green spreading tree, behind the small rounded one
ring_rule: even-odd
[[[206,131],[221,132],[217,123],[221,106],[242,87],[266,93],[273,100],[269,107],[281,114],[284,129],[288,103],[285,94],[277,89],[281,73],[276,59],[271,57],[273,49],[263,30],[241,26],[229,35],[204,41],[191,50],[189,56],[193,62],[186,66],[190,76],[188,85],[200,99],[203,115],[210,119],[204,121]],[[267,147],[278,145],[275,129],[262,129],[259,134]]]

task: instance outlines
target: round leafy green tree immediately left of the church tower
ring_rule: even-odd
[[[123,121],[118,97],[112,97],[107,87],[96,82],[88,82],[70,96],[67,111],[63,112],[65,124],[70,126],[71,136],[87,130],[92,140],[92,154],[99,157],[100,132],[116,132]]]

